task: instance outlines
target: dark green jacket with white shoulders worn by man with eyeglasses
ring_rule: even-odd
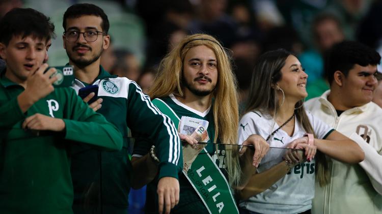
[[[133,137],[145,137],[156,144],[160,160],[160,176],[178,178],[182,165],[180,140],[170,118],[161,114],[142,93],[141,88],[127,78],[108,74],[100,67],[98,98],[102,107],[97,111],[114,124],[124,137],[121,151],[98,151],[78,144],[72,149],[72,179],[75,213],[126,213],[130,190],[131,163],[128,158],[127,127]],[[86,83],[75,80],[78,92]],[[89,189],[90,188],[90,189]],[[85,198],[85,194],[88,198]],[[98,197],[100,195],[101,197]],[[84,201],[90,206],[84,210]]]

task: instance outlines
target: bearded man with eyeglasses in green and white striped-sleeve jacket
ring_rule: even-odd
[[[74,213],[127,213],[131,164],[127,127],[134,137],[155,142],[159,159],[158,197],[168,206],[179,200],[178,173],[182,166],[180,140],[170,118],[160,113],[137,83],[112,76],[100,66],[102,51],[110,44],[109,22],[103,10],[92,4],[76,4],[63,18],[64,48],[74,66],[73,88],[98,85],[98,100],[90,105],[124,136],[121,151],[98,151],[83,145],[72,147]],[[89,96],[92,97],[93,94]],[[84,100],[88,101],[90,97]],[[102,102],[102,106],[100,105]],[[145,170],[145,169],[142,169]]]

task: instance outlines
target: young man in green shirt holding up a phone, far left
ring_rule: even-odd
[[[118,129],[71,88],[54,88],[43,64],[54,26],[42,13],[16,8],[0,21],[1,213],[72,213],[74,143],[117,150]],[[75,142],[76,141],[76,142]]]

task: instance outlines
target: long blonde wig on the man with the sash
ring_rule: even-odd
[[[236,144],[239,123],[237,80],[232,72],[230,57],[223,46],[212,36],[194,34],[185,37],[161,60],[154,84],[150,87],[148,95],[151,99],[166,97],[172,93],[184,97],[181,83],[184,57],[190,48],[200,45],[210,48],[214,52],[217,62],[217,84],[212,91],[215,125],[213,142],[216,143],[219,136],[223,144]],[[238,150],[236,147],[226,145],[226,154],[225,163],[230,184],[237,185],[241,175]]]

